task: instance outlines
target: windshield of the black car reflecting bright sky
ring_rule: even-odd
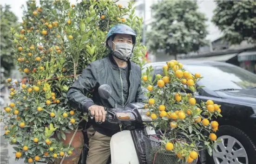
[[[256,87],[256,75],[234,65],[185,65],[192,74],[203,76],[201,84],[210,90],[245,89]]]

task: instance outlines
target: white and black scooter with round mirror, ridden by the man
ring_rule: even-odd
[[[112,89],[109,85],[101,85],[98,88],[101,98],[107,100],[111,96]],[[152,120],[146,116],[147,110],[143,103],[130,103],[123,108],[107,109],[105,121],[118,123],[126,130],[114,134],[110,141],[111,160],[107,164],[146,164],[144,135],[155,135],[156,131],[145,126]],[[93,119],[93,117],[91,117]],[[86,164],[88,151],[88,139],[86,132],[84,151],[81,153],[79,164]]]

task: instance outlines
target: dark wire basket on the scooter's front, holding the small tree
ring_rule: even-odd
[[[191,144],[190,139],[184,136],[178,136],[181,142]],[[146,147],[146,160],[147,164],[188,164],[179,160],[177,155],[172,151],[166,151],[161,148],[160,135],[145,135],[144,136]],[[196,141],[196,146],[199,146],[199,141]],[[190,164],[197,164],[197,158]]]

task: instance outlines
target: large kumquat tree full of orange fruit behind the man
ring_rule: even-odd
[[[108,55],[106,34],[113,25],[123,23],[137,32],[132,60],[142,64],[146,50],[139,42],[142,18],[134,15],[133,5],[133,1],[123,7],[116,1],[83,0],[74,5],[40,0],[39,7],[27,1],[22,28],[10,32],[14,58],[29,81],[11,88],[12,102],[2,113],[4,136],[14,145],[16,160],[29,164],[65,164],[65,157],[79,160],[84,142],[79,123],[88,118],[69,107],[66,92],[89,63]]]

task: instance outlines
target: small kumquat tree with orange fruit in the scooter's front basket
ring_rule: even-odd
[[[196,101],[197,89],[201,88],[197,87],[197,82],[203,77],[200,73],[186,71],[182,63],[176,60],[167,62],[163,66],[163,76],[156,75],[153,82],[151,71],[152,67],[147,68],[142,76],[144,86],[149,91],[146,115],[153,120],[148,126],[160,129],[163,135],[155,143],[160,145],[154,147],[151,143],[152,147],[147,151],[151,156],[147,160],[155,164],[196,164],[198,152],[206,148],[211,155],[213,145],[217,142],[215,132],[218,130],[218,122],[211,120],[222,117],[220,105],[211,100]],[[157,86],[153,87],[156,82]],[[188,89],[190,94],[185,94]],[[199,146],[199,141],[205,147]]]

